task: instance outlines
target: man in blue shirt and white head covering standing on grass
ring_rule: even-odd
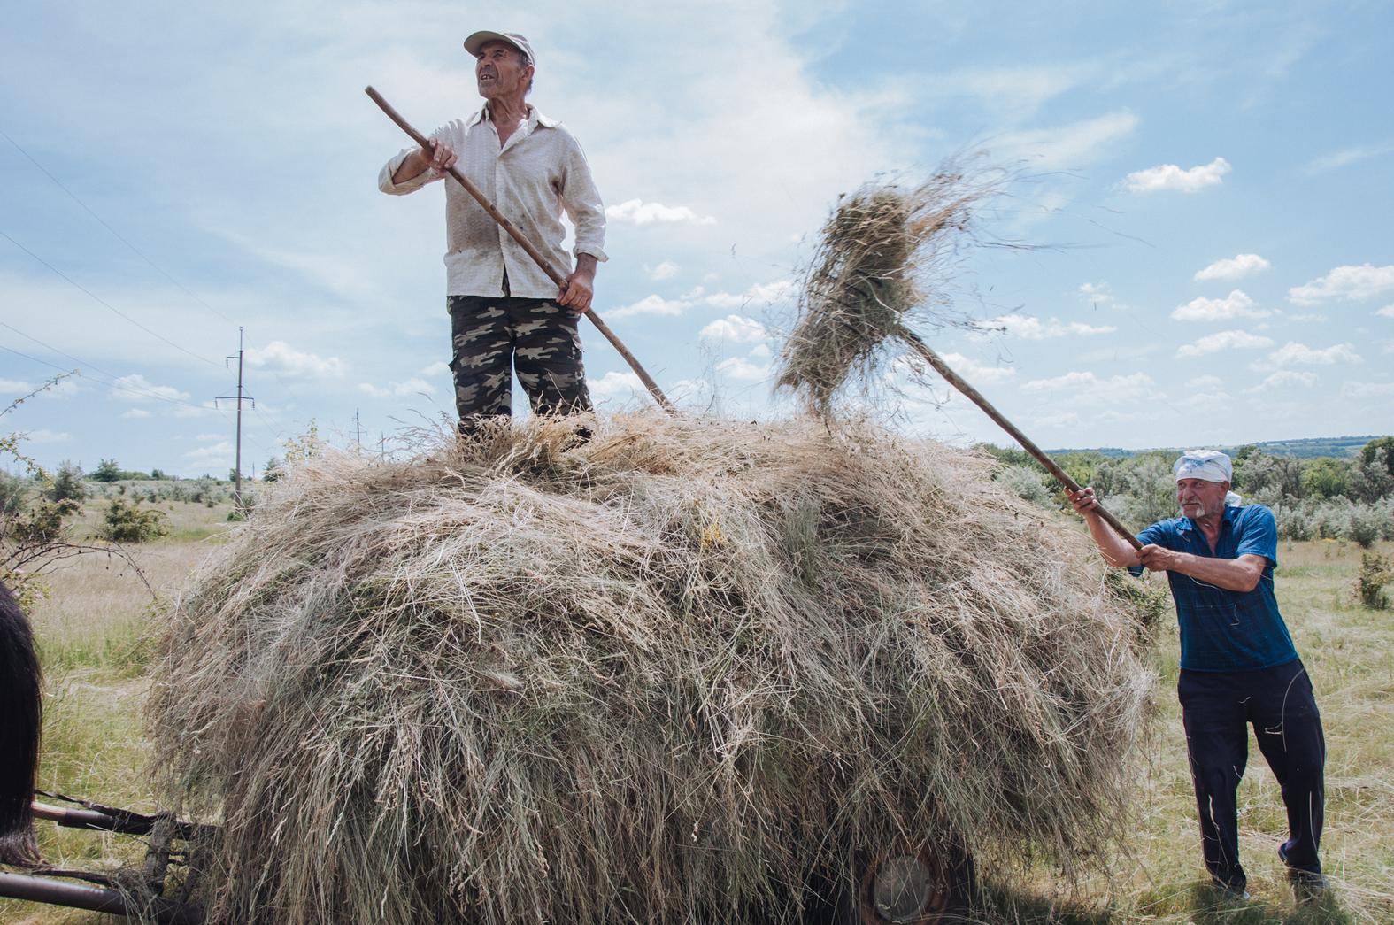
[[[1174,472],[1182,516],[1139,533],[1140,551],[1098,516],[1093,488],[1071,501],[1110,565],[1167,572],[1171,583],[1181,624],[1177,693],[1206,869],[1217,886],[1248,897],[1235,794],[1253,724],[1288,811],[1278,857],[1298,901],[1309,901],[1324,889],[1317,848],[1326,742],[1312,682],[1273,593],[1277,525],[1263,505],[1227,504],[1232,469],[1224,453],[1188,451]]]

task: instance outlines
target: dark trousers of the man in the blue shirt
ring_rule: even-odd
[[[1239,865],[1235,806],[1249,758],[1248,725],[1282,788],[1288,840],[1281,854],[1294,871],[1319,873],[1326,739],[1302,661],[1260,671],[1182,671],[1177,695],[1210,876],[1235,890],[1248,879]]]

